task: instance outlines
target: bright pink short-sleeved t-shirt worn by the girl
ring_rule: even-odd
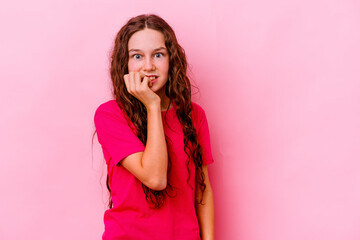
[[[174,104],[174,103],[173,103]],[[209,129],[204,110],[192,102],[193,124],[203,151],[203,164],[212,163]],[[119,161],[145,150],[137,138],[135,127],[115,100],[103,103],[95,113],[95,127],[107,163],[113,208],[105,211],[103,239],[127,240],[200,240],[195,210],[195,165],[190,161],[190,185],[187,183],[187,155],[184,152],[182,125],[176,116],[176,106],[161,112],[168,145],[173,187],[160,209],[149,207],[141,182]],[[166,122],[165,123],[165,115]]]

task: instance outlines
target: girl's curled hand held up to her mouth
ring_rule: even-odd
[[[130,72],[124,75],[124,80],[128,92],[139,99],[146,108],[160,104],[160,97],[150,89],[152,83],[149,77],[140,72]]]

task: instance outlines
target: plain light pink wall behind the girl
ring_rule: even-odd
[[[101,238],[93,114],[114,36],[140,13],[173,26],[200,90],[216,238],[360,239],[355,0],[4,2],[0,239]]]

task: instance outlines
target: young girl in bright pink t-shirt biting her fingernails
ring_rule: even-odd
[[[94,118],[111,199],[103,239],[214,239],[209,129],[174,31],[156,15],[130,19],[110,71],[116,100]]]

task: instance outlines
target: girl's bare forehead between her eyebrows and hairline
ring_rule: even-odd
[[[128,43],[128,50],[152,50],[165,47],[165,39],[162,32],[153,29],[143,29],[134,33]]]

